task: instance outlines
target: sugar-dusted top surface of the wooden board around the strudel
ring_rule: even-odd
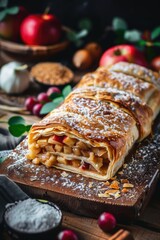
[[[157,121],[158,122],[158,121]],[[18,179],[27,178],[27,183],[33,185],[36,182],[41,188],[45,187],[53,192],[62,189],[62,194],[75,194],[80,198],[92,198],[97,201],[110,201],[112,204],[126,204],[126,202],[136,202],[139,192],[144,191],[160,165],[160,124],[155,124],[154,134],[146,138],[142,143],[135,145],[126,157],[127,167],[121,168],[117,173],[117,180],[128,179],[133,188],[128,189],[126,193],[121,193],[117,199],[99,198],[98,194],[109,189],[104,181],[98,181],[86,178],[80,174],[71,172],[64,173],[55,168],[46,168],[43,165],[34,165],[26,159],[27,141],[19,145],[15,151],[10,154],[12,162],[7,167],[8,176],[16,175]],[[121,174],[119,174],[121,172]],[[31,184],[29,183],[31,182]],[[24,180],[22,181],[24,182]],[[58,189],[58,190],[57,190]],[[120,184],[122,189],[122,184]]]

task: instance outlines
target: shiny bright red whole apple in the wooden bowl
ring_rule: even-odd
[[[33,14],[21,24],[22,41],[28,45],[51,45],[60,40],[61,24],[53,14]]]

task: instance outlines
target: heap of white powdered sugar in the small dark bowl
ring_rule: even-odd
[[[5,220],[18,231],[34,233],[49,230],[61,220],[59,211],[47,203],[26,199],[7,208]]]

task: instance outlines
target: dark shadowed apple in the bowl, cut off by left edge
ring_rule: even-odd
[[[11,41],[19,41],[20,25],[27,15],[27,10],[22,6],[19,7],[17,14],[7,14],[6,17],[0,21],[0,37]]]

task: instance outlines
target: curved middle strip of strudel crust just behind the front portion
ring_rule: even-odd
[[[74,94],[79,96],[87,96],[90,99],[112,101],[123,108],[125,112],[128,112],[133,116],[139,127],[139,140],[144,139],[151,132],[153,111],[146,105],[141,99],[132,93],[118,90],[116,88],[98,88],[98,87],[84,87],[77,88]]]

